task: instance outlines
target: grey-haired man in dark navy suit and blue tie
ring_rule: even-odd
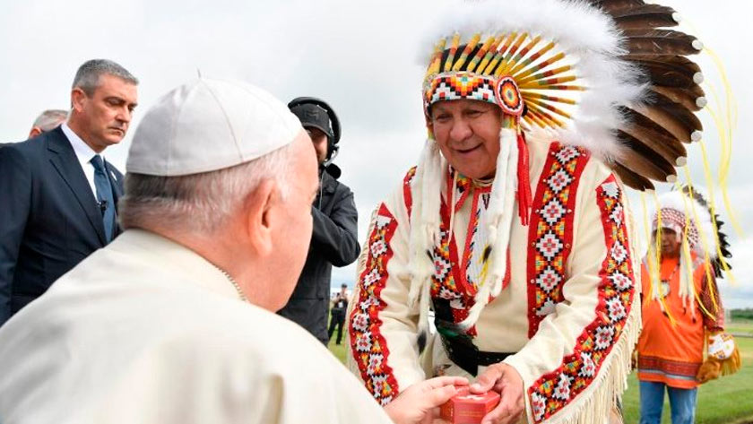
[[[66,123],[0,149],[0,325],[117,236],[123,175],[101,153],[125,136],[137,84],[115,62],[90,60]]]

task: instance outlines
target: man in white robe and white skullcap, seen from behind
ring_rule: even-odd
[[[274,311],[307,254],[316,155],[299,119],[240,82],[158,100],[126,163],[125,232],[0,331],[0,421],[419,423],[464,379],[384,410]]]

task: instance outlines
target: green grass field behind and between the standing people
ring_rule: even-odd
[[[753,321],[738,321],[727,326],[730,333],[750,334],[736,337],[740,347],[742,369],[733,375],[701,385],[698,388],[697,424],[753,423]],[[343,336],[344,338],[344,336]],[[345,361],[345,345],[330,341],[329,349],[337,359]],[[638,422],[638,381],[635,373],[628,378],[628,390],[623,397],[625,422]],[[665,399],[663,423],[670,423],[670,404]]]

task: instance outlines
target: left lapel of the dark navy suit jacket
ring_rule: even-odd
[[[97,205],[97,199],[91,193],[89,182],[83,175],[71,142],[59,126],[48,134],[49,161],[73,192],[76,201],[81,205],[86,218],[97,233],[97,237],[100,238],[100,243],[105,246],[105,225],[102,222],[102,212]]]

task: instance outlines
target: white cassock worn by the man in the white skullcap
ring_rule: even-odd
[[[132,229],[0,329],[0,422],[391,421],[299,326]]]

